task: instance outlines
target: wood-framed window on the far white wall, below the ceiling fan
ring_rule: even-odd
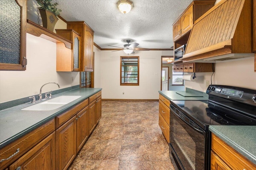
[[[139,86],[139,57],[120,57],[120,86]]]

